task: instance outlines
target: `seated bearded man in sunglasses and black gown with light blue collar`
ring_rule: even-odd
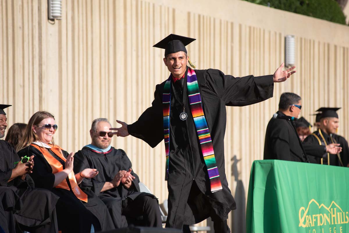
[[[96,168],[99,174],[84,179],[82,190],[92,190],[109,209],[116,228],[136,226],[161,227],[162,220],[157,198],[141,193],[139,178],[132,170],[131,161],[125,151],[110,145],[111,125],[105,118],[92,122],[92,143],[84,146],[74,156],[74,172]]]

